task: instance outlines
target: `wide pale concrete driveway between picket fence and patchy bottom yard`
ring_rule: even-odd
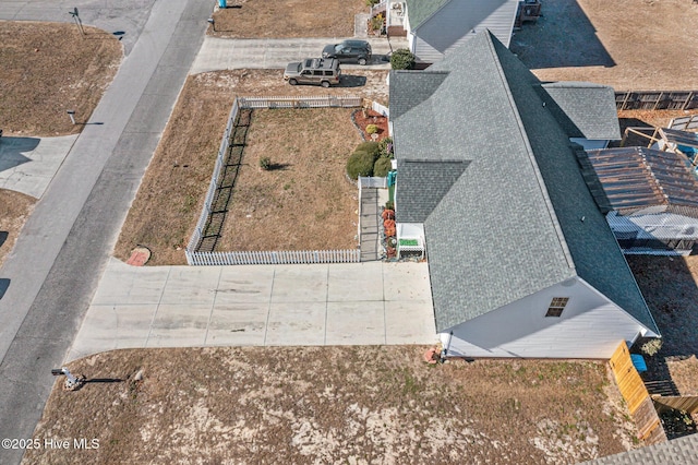
[[[68,360],[136,347],[436,342],[426,263],[135,267],[111,259]]]

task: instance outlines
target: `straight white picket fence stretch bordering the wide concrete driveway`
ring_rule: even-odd
[[[190,265],[277,265],[309,263],[359,263],[361,251],[356,250],[282,250],[253,252],[186,251]]]

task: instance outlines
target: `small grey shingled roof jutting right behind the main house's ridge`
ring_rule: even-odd
[[[570,138],[621,140],[612,87],[588,82],[553,82],[543,84],[542,88],[545,93],[541,99],[550,105],[550,111]]]

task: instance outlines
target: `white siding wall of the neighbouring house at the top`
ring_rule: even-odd
[[[420,60],[435,62],[472,37],[473,31],[485,28],[508,47],[517,7],[518,0],[453,0],[413,31],[411,49]]]

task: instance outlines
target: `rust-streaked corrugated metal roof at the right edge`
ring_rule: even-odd
[[[674,152],[645,147],[579,151],[582,174],[603,213],[648,208],[698,218],[698,177]]]

